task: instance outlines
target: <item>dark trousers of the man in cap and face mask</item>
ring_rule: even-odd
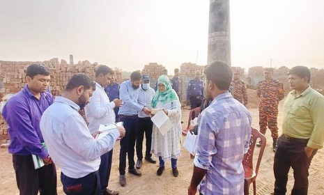
[[[143,159],[143,139],[144,132],[146,138],[146,152],[145,157],[151,157],[151,143],[152,143],[152,130],[153,130],[153,122],[151,117],[146,118],[138,118],[137,120],[137,139],[136,139],[136,153],[137,159]]]

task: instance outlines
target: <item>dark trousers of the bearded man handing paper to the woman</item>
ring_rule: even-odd
[[[121,150],[119,153],[119,174],[125,175],[126,155],[128,156],[128,169],[134,169],[134,147],[136,141],[137,117],[124,118],[119,116],[119,121],[123,122],[125,137],[121,139]]]

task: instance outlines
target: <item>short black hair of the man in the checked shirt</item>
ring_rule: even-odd
[[[208,65],[203,73],[206,75],[207,81],[212,81],[219,90],[229,90],[232,80],[232,70],[226,63],[215,61]]]

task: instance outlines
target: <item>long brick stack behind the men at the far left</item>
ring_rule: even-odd
[[[70,65],[65,60],[51,59],[49,61],[0,61],[0,101],[10,93],[17,93],[26,85],[26,68],[33,63],[43,63],[49,70],[51,76],[50,90],[53,95],[62,95],[66,84],[75,73],[83,72],[92,79],[95,77],[95,70],[98,63],[90,63],[89,61],[79,61],[79,63]],[[121,70],[115,69],[115,77],[117,81],[121,80]],[[2,81],[2,82],[1,82]],[[84,116],[84,113],[80,113]],[[0,115],[0,141],[8,141],[8,125]]]

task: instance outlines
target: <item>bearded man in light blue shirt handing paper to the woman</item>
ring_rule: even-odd
[[[151,111],[138,102],[139,86],[141,86],[141,72],[134,71],[130,75],[130,80],[124,81],[119,88],[119,95],[123,101],[123,106],[119,109],[118,115],[119,121],[123,122],[126,130],[125,137],[121,139],[121,150],[119,153],[119,182],[122,187],[126,185],[126,155],[128,156],[128,172],[135,176],[141,176],[141,171],[134,167],[137,114],[139,111],[150,114]]]

